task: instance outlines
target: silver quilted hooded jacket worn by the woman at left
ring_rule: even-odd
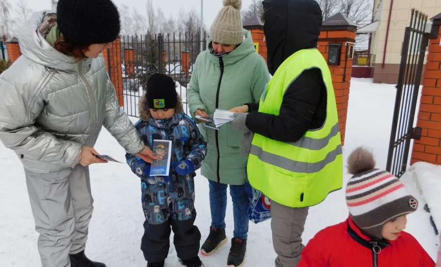
[[[22,56],[0,75],[1,142],[27,170],[49,178],[66,177],[102,126],[128,153],[142,150],[103,56],[77,62],[55,50],[38,30],[47,15],[33,15],[19,36]]]

